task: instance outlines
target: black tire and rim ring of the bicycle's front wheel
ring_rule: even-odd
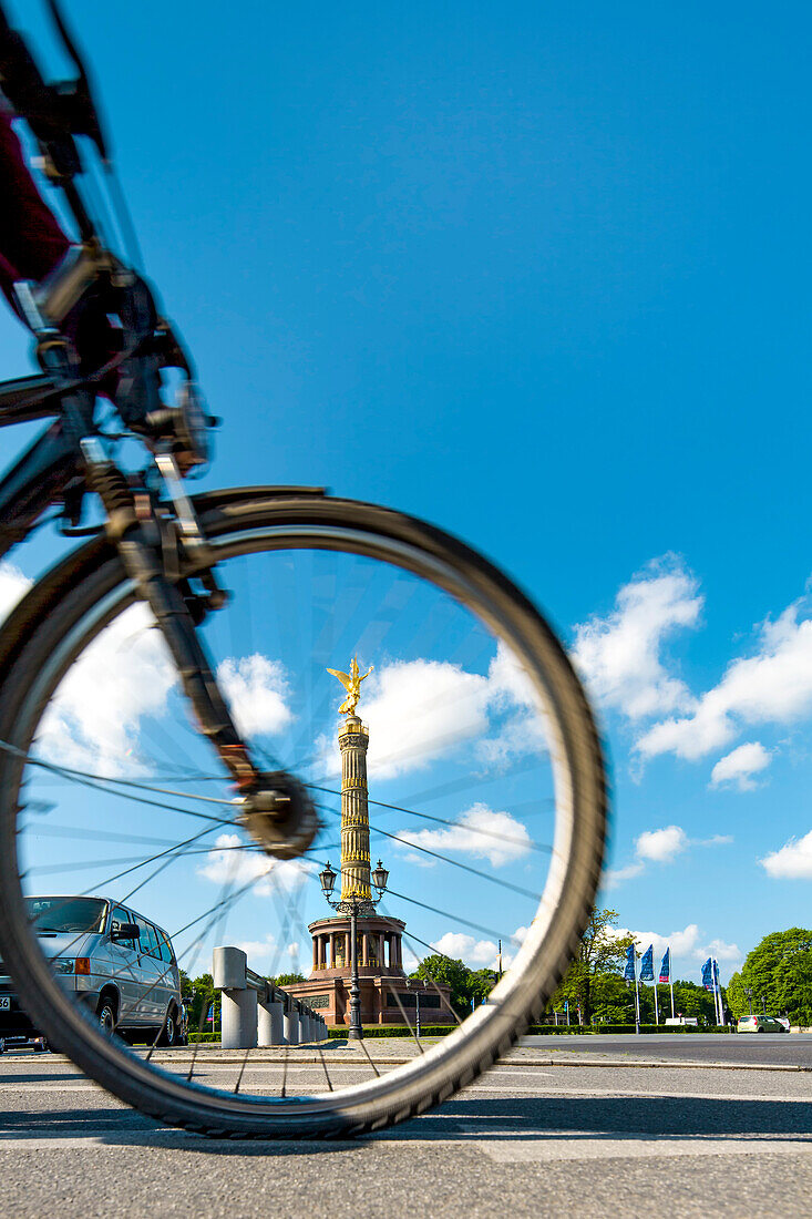
[[[12,746],[0,750],[0,953],[49,1042],[113,1095],[168,1125],[238,1139],[349,1137],[378,1130],[446,1100],[504,1054],[540,1017],[573,959],[606,848],[608,791],[600,736],[552,629],[500,570],[455,538],[386,508],[300,489],[293,496],[284,489],[232,489],[199,496],[195,505],[216,552],[272,536],[276,549],[306,544],[384,557],[499,624],[500,638],[510,640],[545,701],[556,741],[556,847],[530,931],[488,1006],[408,1065],[344,1090],[340,1104],[329,1095],[257,1100],[185,1085],[104,1040],[54,981],[30,931],[16,851],[23,761],[13,752],[29,748],[60,666],[65,672],[79,636],[87,641],[88,617],[94,616],[98,631],[134,600],[116,550],[99,536],[32,589],[0,636],[0,741]]]

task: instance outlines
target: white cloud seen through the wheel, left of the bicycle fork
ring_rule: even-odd
[[[140,720],[163,714],[177,679],[150,611],[130,606],[68,669],[43,719],[37,752],[105,775],[138,770]]]

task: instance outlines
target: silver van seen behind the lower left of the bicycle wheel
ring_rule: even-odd
[[[76,991],[104,1032],[129,1042],[178,1045],[183,1037],[180,975],[166,931],[130,906],[107,897],[27,897],[43,953],[63,986]],[[6,984],[4,986],[4,984]],[[30,1023],[0,979],[0,1039]]]

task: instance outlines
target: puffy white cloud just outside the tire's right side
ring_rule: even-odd
[[[697,588],[679,561],[666,557],[619,590],[606,618],[575,628],[575,663],[607,707],[640,719],[693,705],[685,683],[667,672],[662,649],[674,631],[696,625]]]

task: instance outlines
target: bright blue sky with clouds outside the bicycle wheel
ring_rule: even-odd
[[[390,503],[529,590],[599,696],[606,901],[678,973],[808,923],[812,845],[760,862],[812,831],[806,6],[73,7],[208,485]]]

